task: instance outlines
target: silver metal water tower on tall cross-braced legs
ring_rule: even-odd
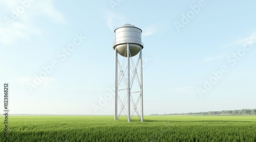
[[[143,121],[141,33],[132,24],[115,30],[115,120],[124,114],[128,122],[134,115]]]

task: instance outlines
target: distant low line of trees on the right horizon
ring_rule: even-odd
[[[159,114],[152,114],[159,115]],[[189,112],[189,113],[169,113],[164,115],[256,115],[256,109],[241,109],[241,110],[222,110],[222,111],[207,111],[207,112]]]

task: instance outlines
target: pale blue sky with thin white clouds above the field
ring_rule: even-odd
[[[11,113],[114,115],[105,96],[125,23],[143,31],[145,115],[256,108],[255,1],[21,2],[0,2]]]

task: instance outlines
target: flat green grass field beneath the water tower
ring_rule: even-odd
[[[256,141],[256,116],[10,116],[0,141]]]

